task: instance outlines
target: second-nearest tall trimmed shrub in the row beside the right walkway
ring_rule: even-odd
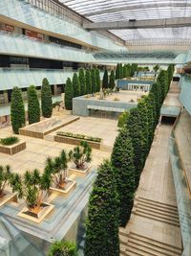
[[[127,128],[122,128],[119,131],[111,162],[117,180],[119,222],[125,226],[131,216],[135,193],[134,149]]]

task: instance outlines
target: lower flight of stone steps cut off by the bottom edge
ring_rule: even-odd
[[[129,234],[120,229],[120,255],[125,256],[178,256],[181,249],[147,238],[134,232]]]

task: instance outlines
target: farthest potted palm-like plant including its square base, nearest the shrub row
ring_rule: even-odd
[[[91,168],[92,148],[88,142],[81,141],[80,146],[74,147],[74,150],[69,152],[69,159],[74,162],[70,172],[87,174]]]

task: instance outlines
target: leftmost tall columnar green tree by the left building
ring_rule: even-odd
[[[11,126],[14,133],[19,133],[19,128],[25,126],[25,107],[22,92],[18,87],[13,87],[11,93]]]

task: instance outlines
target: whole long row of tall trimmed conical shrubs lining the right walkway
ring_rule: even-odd
[[[123,117],[124,126],[117,135],[111,162],[100,166],[89,198],[85,256],[119,255],[118,225],[125,226],[130,219],[134,195],[173,70],[174,66],[170,65],[167,71],[160,71],[149,95]]]

